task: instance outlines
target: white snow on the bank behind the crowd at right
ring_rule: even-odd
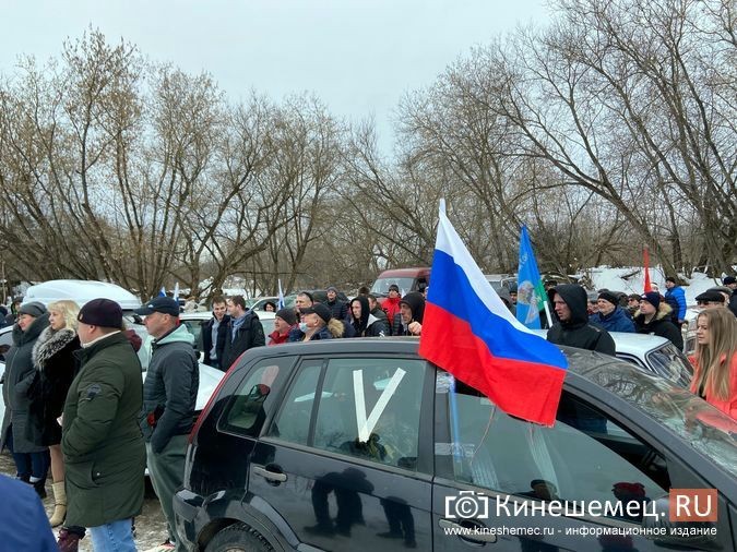
[[[613,268],[609,266],[596,266],[584,272],[594,289],[606,288],[610,291],[623,291],[625,293],[642,293],[644,289],[645,273],[642,266],[623,266]],[[703,273],[693,273],[691,278],[681,276],[682,288],[686,292],[686,302],[696,304],[696,297],[709,288],[721,286],[722,279],[714,279]],[[665,274],[658,267],[650,268],[650,281],[657,284],[662,295],[665,295]]]

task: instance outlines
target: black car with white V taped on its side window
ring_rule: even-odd
[[[177,531],[206,551],[734,550],[736,422],[627,362],[564,352],[545,428],[412,338],[249,350],[192,432]],[[670,520],[671,489],[713,493],[716,519]]]

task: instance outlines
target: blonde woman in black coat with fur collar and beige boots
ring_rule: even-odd
[[[54,477],[54,514],[51,527],[61,525],[67,515],[64,490],[64,457],[61,453],[61,425],[59,417],[64,407],[67,393],[76,375],[74,351],[80,348],[76,335],[76,315],[80,312],[74,301],[49,303],[49,325],[41,332],[33,347],[32,358],[36,380],[29,392],[31,423],[26,436],[38,446],[48,446]]]

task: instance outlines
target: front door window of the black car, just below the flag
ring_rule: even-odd
[[[457,481],[540,501],[609,503],[614,517],[634,523],[643,511],[628,515],[629,503],[643,508],[668,492],[665,460],[573,395],[563,393],[552,428],[512,418],[460,382],[451,400]]]

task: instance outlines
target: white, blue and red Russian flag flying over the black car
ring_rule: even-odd
[[[552,425],[568,361],[518,322],[440,211],[419,353],[504,412]]]

